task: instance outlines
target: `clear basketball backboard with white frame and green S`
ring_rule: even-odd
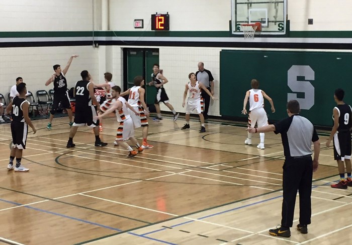
[[[287,0],[231,0],[232,34],[243,35],[241,24],[261,23],[263,35],[285,35]]]

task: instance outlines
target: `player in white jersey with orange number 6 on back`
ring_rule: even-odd
[[[250,85],[252,89],[246,92],[243,101],[243,110],[242,114],[247,114],[246,106],[247,101],[249,100],[249,113],[248,113],[248,125],[249,127],[254,127],[255,123],[257,127],[262,127],[268,125],[268,116],[266,111],[264,110],[264,98],[267,99],[272,106],[272,112],[275,112],[274,103],[272,98],[270,98],[264,91],[258,89],[259,82],[256,79],[252,79],[250,81]],[[265,133],[259,133],[260,136],[260,143],[256,146],[260,149],[265,149],[264,139]],[[252,144],[252,133],[248,131],[248,137],[244,141],[246,145]]]

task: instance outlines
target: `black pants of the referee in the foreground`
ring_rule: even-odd
[[[292,227],[297,190],[299,192],[300,224],[310,224],[312,214],[313,161],[311,156],[286,159],[283,166],[283,191],[281,226]]]

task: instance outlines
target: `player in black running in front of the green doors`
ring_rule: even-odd
[[[156,121],[160,121],[162,120],[161,117],[161,112],[160,112],[160,102],[163,102],[165,106],[167,106],[168,109],[170,109],[170,111],[173,114],[173,121],[176,121],[180,115],[180,113],[177,113],[172,105],[169,103],[167,94],[165,92],[165,89],[163,87],[163,85],[165,83],[168,82],[168,80],[160,73],[159,70],[159,65],[158,64],[154,64],[153,65],[153,73],[151,74],[151,77],[153,79],[153,81],[151,81],[150,83],[148,83],[149,86],[155,86],[157,94],[156,94],[156,98],[155,98],[155,109],[156,109],[156,114],[157,114],[157,118]]]

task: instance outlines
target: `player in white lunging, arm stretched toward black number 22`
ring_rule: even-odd
[[[142,152],[143,148],[140,147],[136,138],[134,137],[133,121],[131,115],[128,112],[128,109],[130,109],[135,115],[138,115],[139,113],[127,103],[125,98],[120,96],[121,88],[119,86],[112,87],[112,90],[112,95],[115,101],[110,106],[110,108],[106,110],[102,115],[99,115],[98,118],[100,119],[110,112],[116,111],[117,121],[120,122],[120,126],[117,129],[115,141],[117,142],[117,145],[121,145],[130,152],[127,157],[131,158],[137,155],[137,151]],[[127,140],[131,140],[131,142],[136,146],[137,151],[133,150],[132,147],[125,142]]]

